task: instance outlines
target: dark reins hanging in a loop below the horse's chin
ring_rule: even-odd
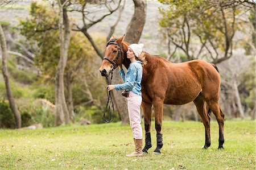
[[[108,77],[106,77],[106,80],[108,82],[108,85],[111,84],[112,82],[112,78],[113,78],[113,73],[111,72],[111,78],[110,78],[110,83],[108,81]],[[105,107],[105,110],[104,110],[104,114],[103,114],[103,121],[105,123],[110,123],[113,121],[114,119],[114,103],[113,103],[113,99],[112,99],[112,96],[111,96],[111,90],[108,92],[108,87],[106,88],[106,92],[107,92],[107,96],[108,96],[108,101],[106,103],[106,107]],[[111,109],[111,103],[112,103],[112,109]],[[109,109],[109,110],[107,110]],[[113,113],[111,113],[111,111],[113,110]],[[106,118],[106,113],[109,114],[108,118]]]

